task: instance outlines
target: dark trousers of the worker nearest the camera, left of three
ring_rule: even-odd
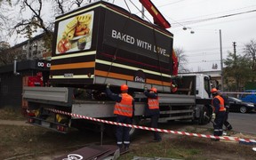
[[[122,123],[122,124],[132,124],[132,118],[129,116],[116,116],[116,122]],[[117,146],[119,148],[123,148],[123,142],[124,142],[124,148],[129,148],[130,146],[130,135],[129,135],[129,127],[124,127],[117,125],[116,126],[116,140],[117,140]]]

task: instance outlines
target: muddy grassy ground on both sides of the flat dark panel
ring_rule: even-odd
[[[166,126],[161,126],[168,128]],[[204,126],[203,126],[204,127]],[[197,125],[170,125],[169,129],[183,132],[211,134],[211,130]],[[232,136],[256,139],[255,135],[233,132]],[[132,140],[131,150],[118,159],[133,156],[172,157],[179,159],[255,159],[252,145],[232,141],[212,141],[206,138],[162,133],[161,142],[152,142],[151,132],[140,131]],[[100,132],[78,132],[68,134],[52,132],[36,126],[0,124],[0,159],[54,159],[86,145],[100,145]],[[103,136],[103,144],[116,144],[113,138]],[[255,146],[254,146],[255,147]]]

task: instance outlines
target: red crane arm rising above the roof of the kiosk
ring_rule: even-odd
[[[140,3],[153,16],[154,23],[162,28],[171,28],[171,24],[164,19],[164,16],[156,9],[156,6],[150,0],[140,0]]]

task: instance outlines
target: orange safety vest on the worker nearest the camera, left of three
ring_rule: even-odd
[[[121,93],[122,100],[116,102],[114,114],[132,117],[132,96],[128,93]]]

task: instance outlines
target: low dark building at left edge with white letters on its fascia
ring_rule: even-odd
[[[28,77],[41,72],[44,83],[47,83],[51,63],[47,60],[26,60],[17,62],[16,67],[14,64],[0,67],[0,108],[26,105],[22,100],[22,90],[28,85]]]

